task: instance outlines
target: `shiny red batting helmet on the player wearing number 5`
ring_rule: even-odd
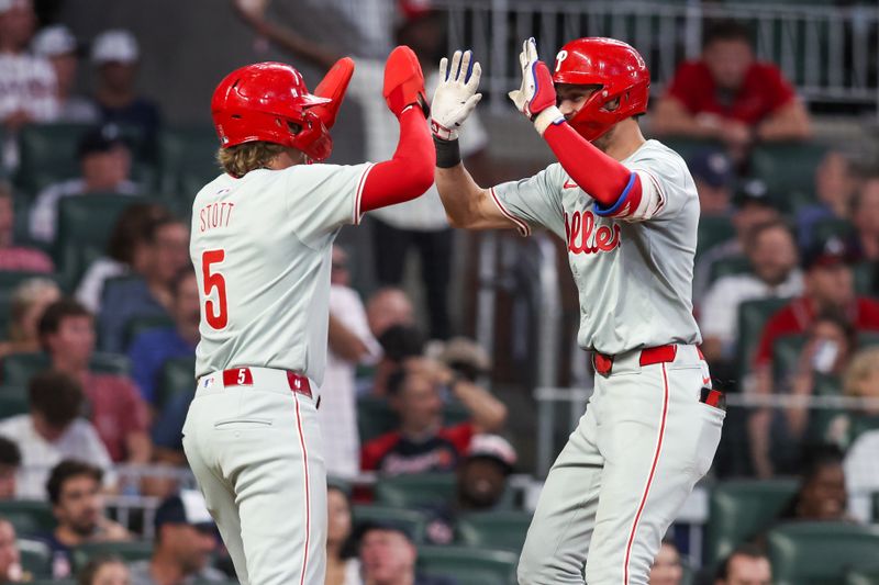
[[[323,160],[330,132],[309,109],[332,100],[309,93],[302,76],[282,63],[257,63],[229,74],[213,92],[211,114],[223,148],[263,140]]]

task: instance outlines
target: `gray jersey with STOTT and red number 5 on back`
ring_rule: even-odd
[[[197,376],[252,365],[322,382],[331,249],[343,224],[359,223],[370,168],[258,169],[199,191],[190,241],[201,296]]]

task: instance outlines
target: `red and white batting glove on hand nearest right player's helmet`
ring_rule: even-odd
[[[519,64],[522,67],[522,86],[508,95],[513,100],[516,110],[534,122],[537,132],[543,135],[549,124],[559,124],[565,121],[565,116],[556,108],[553,75],[537,57],[537,43],[533,36],[522,44]]]

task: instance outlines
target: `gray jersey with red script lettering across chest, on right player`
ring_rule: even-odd
[[[692,315],[699,198],[683,159],[647,140],[622,161],[641,178],[639,202],[612,216],[554,164],[530,179],[491,189],[522,235],[543,226],[568,245],[580,297],[578,344],[603,353],[700,344]]]

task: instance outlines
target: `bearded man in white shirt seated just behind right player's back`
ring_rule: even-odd
[[[780,220],[755,226],[745,244],[750,272],[714,281],[700,311],[702,352],[712,365],[734,358],[738,306],[745,301],[793,297],[803,292],[793,235]]]

